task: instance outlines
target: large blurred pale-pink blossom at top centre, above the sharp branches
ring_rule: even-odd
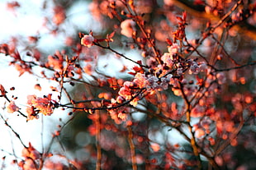
[[[135,21],[131,19],[127,19],[121,22],[121,34],[125,35],[126,37],[132,37],[133,32],[135,29]]]

